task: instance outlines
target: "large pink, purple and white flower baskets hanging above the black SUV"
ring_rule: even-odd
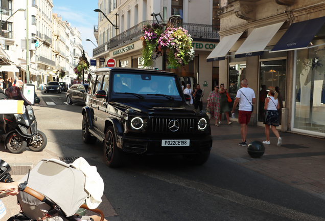
[[[161,56],[162,52],[168,53],[168,64],[173,67],[188,64],[194,59],[193,39],[187,30],[181,27],[162,30],[162,25],[158,24],[143,28],[144,35],[140,39],[143,41],[142,60],[145,67],[151,66],[152,60]]]

